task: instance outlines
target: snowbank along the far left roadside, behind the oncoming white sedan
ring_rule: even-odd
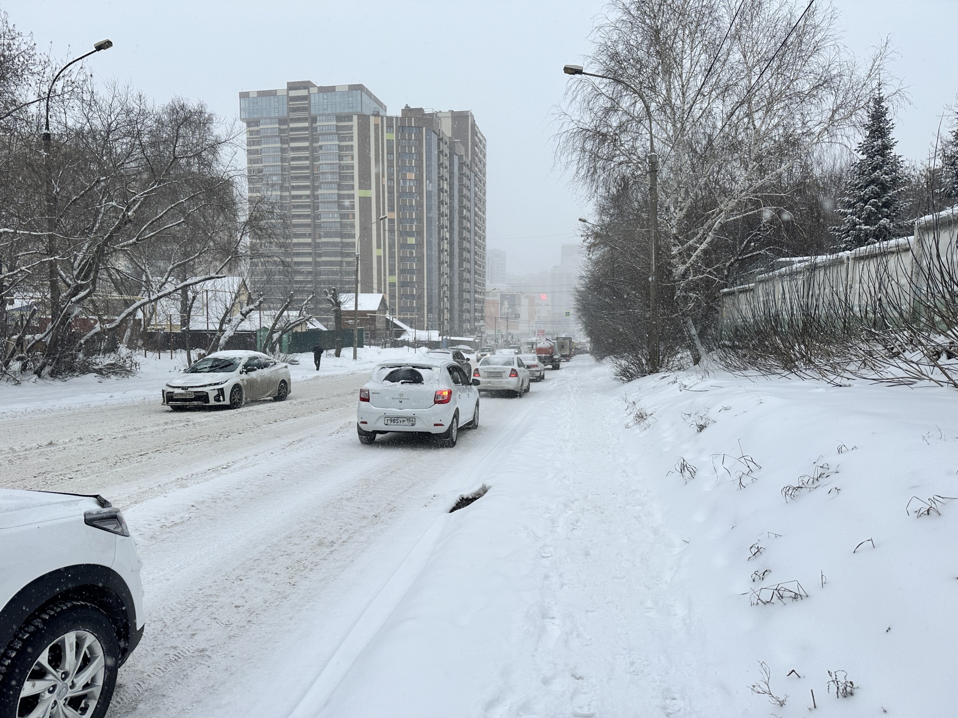
[[[352,348],[344,348],[339,358],[329,351],[328,356],[323,357],[319,371],[313,367],[311,353],[298,354],[299,364],[290,365],[289,371],[293,382],[318,376],[369,371],[382,359],[406,356],[412,351],[410,348],[359,348],[356,361],[353,361]],[[146,357],[137,357],[137,362],[140,364],[139,372],[126,378],[86,374],[65,380],[30,377],[18,385],[0,382],[0,412],[105,405],[142,399],[159,401],[160,387],[187,366],[186,353],[183,351],[173,352],[172,358],[169,351],[159,357],[151,352]]]

